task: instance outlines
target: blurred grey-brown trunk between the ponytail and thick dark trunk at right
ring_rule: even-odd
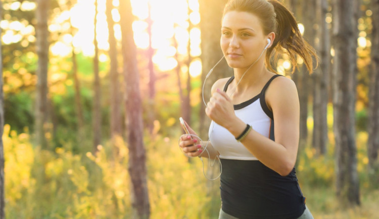
[[[313,146],[319,154],[326,153],[327,144],[327,102],[328,102],[328,76],[330,64],[330,40],[327,23],[327,0],[317,0],[316,20],[317,50],[320,54],[320,67],[313,73]]]

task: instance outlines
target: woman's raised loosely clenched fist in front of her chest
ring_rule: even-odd
[[[216,89],[209,99],[205,113],[211,120],[224,128],[228,128],[236,118],[231,99],[220,89]]]

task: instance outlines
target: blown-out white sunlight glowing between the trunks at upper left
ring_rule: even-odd
[[[133,22],[132,28],[134,32],[134,41],[139,49],[148,49],[150,37],[151,46],[154,49],[153,62],[160,71],[169,71],[174,69],[178,63],[175,54],[181,56],[188,55],[191,57],[199,57],[200,49],[200,29],[195,25],[200,23],[199,4],[198,1],[177,1],[177,0],[132,0],[132,13],[136,20]],[[170,5],[175,10],[167,10]],[[114,0],[113,6],[118,7],[119,1]],[[148,33],[148,17],[152,19],[151,36]],[[191,13],[188,15],[188,10]],[[86,12],[86,16],[83,16]],[[121,41],[121,27],[117,23],[120,21],[118,10],[112,11],[112,18],[116,22],[114,28],[115,36]],[[50,24],[51,31],[57,31],[63,28],[63,21],[70,19],[72,26],[77,28],[77,32],[71,36],[66,34],[63,39],[51,46],[51,51],[56,56],[68,56],[72,52],[72,45],[78,51],[82,51],[85,56],[94,55],[93,45],[93,22],[94,22],[94,0],[78,0],[77,4],[67,13],[61,13]],[[194,26],[188,33],[189,21]],[[106,18],[106,1],[98,0],[97,15],[97,40],[101,50],[108,50],[108,24]],[[13,35],[12,35],[13,36]],[[12,36],[6,35],[5,40],[12,40]],[[14,38],[13,38],[14,40]],[[177,43],[177,49],[173,46]],[[102,60],[106,60],[104,58]],[[192,77],[201,74],[201,61],[194,60],[189,66],[189,73]]]

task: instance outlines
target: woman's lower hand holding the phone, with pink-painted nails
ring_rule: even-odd
[[[184,121],[184,124],[191,135],[180,136],[179,147],[189,157],[199,156],[203,152],[200,138],[197,138],[196,132],[188,126],[187,122]]]

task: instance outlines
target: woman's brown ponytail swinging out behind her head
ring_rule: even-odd
[[[300,33],[298,24],[292,13],[277,0],[269,0],[274,7],[275,17],[275,39],[272,46],[267,49],[266,65],[270,71],[276,72],[276,63],[280,53],[287,53],[293,66],[292,72],[297,66],[297,57],[300,56],[309,71],[313,72],[313,59],[315,57],[316,66],[318,65],[315,49],[307,43]],[[274,52],[273,52],[274,51]],[[273,53],[272,53],[273,52]]]

